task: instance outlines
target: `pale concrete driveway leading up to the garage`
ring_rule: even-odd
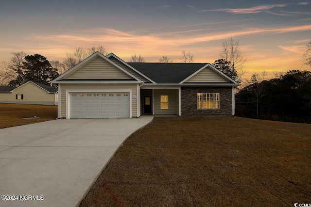
[[[0,206],[78,205],[126,138],[152,119],[59,119],[0,129]]]

